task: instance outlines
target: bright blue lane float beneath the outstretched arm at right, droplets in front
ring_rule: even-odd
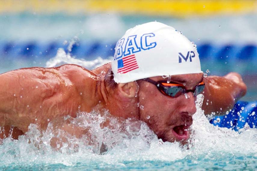
[[[210,123],[235,131],[243,128],[246,123],[250,128],[257,128],[257,101],[238,101],[227,115],[216,116]]]

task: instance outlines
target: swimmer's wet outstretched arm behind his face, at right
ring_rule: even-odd
[[[205,89],[202,109],[206,115],[212,112],[225,115],[246,94],[246,85],[238,73],[229,73],[223,77],[208,76],[203,82]]]

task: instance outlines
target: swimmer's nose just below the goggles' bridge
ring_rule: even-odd
[[[195,107],[195,97],[192,92],[188,92],[187,95],[183,95],[182,98],[182,107],[180,109],[181,113],[186,113],[190,116],[194,115],[196,113],[196,107]]]

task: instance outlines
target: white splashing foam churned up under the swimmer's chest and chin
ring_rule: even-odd
[[[193,134],[188,145],[182,147],[178,142],[163,143],[141,121],[131,119],[118,120],[108,111],[97,110],[90,113],[79,112],[75,119],[66,117],[49,123],[46,131],[39,131],[37,125],[31,124],[29,132],[20,136],[19,140],[4,140],[0,146],[1,163],[8,164],[64,164],[74,166],[78,162],[84,164],[96,163],[101,166],[114,164],[121,166],[124,161],[175,161],[185,159],[188,155],[199,158],[213,158],[222,154],[254,155],[257,153],[256,129],[243,128],[239,132],[228,128],[218,128],[211,125],[197,102],[197,113],[193,116],[191,126]],[[111,127],[102,127],[106,121]],[[53,137],[65,135],[60,125],[69,123],[86,129],[90,138],[76,138],[66,135],[68,146],[54,150],[50,146]],[[77,144],[74,146],[74,144]],[[101,146],[108,149],[101,152]],[[189,149],[187,149],[189,148]],[[99,155],[100,153],[104,155]],[[28,155],[29,154],[29,155]]]

